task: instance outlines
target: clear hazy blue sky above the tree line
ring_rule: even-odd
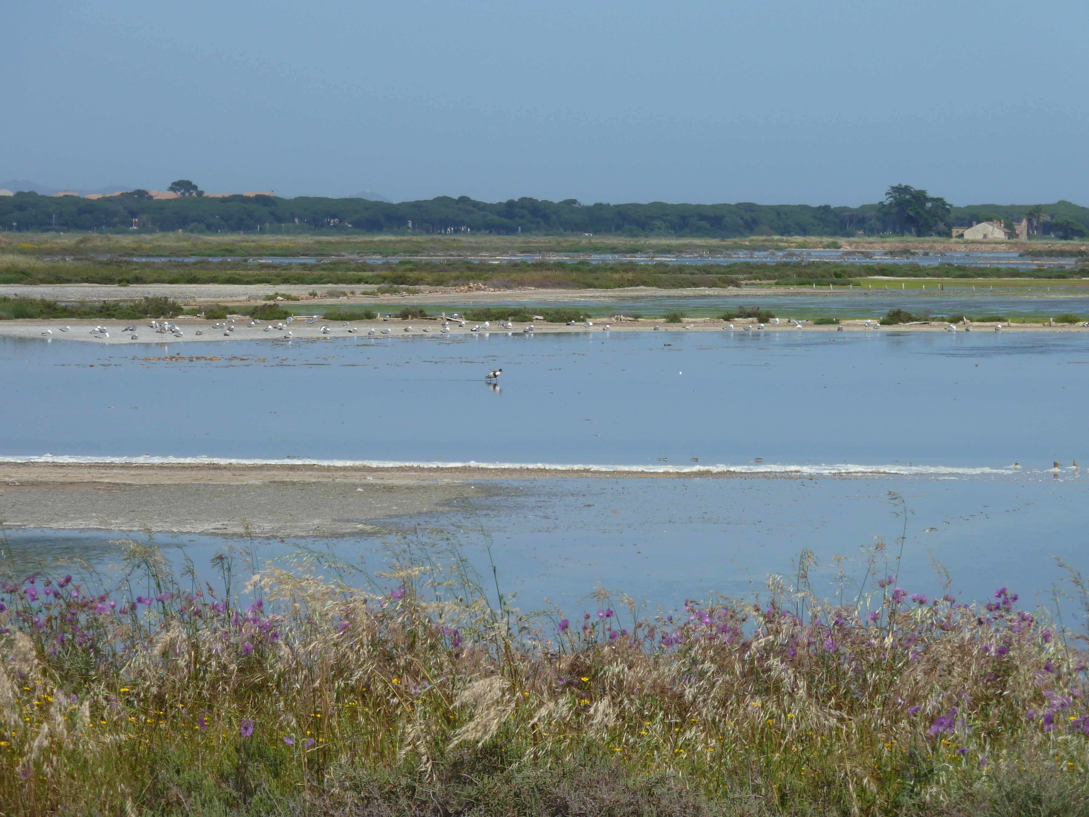
[[[1089,3],[0,0],[0,182],[1089,205]]]

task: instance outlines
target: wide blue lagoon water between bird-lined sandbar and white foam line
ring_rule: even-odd
[[[5,338],[0,455],[1041,470],[1089,463],[1087,367],[1081,333]]]

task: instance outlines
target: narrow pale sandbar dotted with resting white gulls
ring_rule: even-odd
[[[718,318],[689,318],[683,324],[666,324],[661,320],[609,320],[596,319],[591,326],[577,324],[566,326],[564,324],[547,324],[535,321],[524,324],[515,321],[513,328],[500,327],[497,321],[491,321],[486,328],[484,324],[477,321],[466,321],[461,326],[458,321],[452,321],[448,333],[442,330],[442,321],[439,318],[412,318],[402,320],[357,320],[345,327],[339,320],[317,320],[307,324],[305,318],[296,318],[284,329],[266,329],[274,327],[281,321],[264,321],[253,327],[249,326],[249,318],[237,318],[233,324],[225,321],[210,321],[203,318],[180,317],[170,321],[181,330],[181,336],[171,332],[157,332],[148,326],[148,321],[135,324],[135,331],[124,331],[133,324],[119,320],[4,320],[0,321],[0,337],[11,338],[38,338],[48,341],[84,341],[87,343],[123,345],[123,344],[147,344],[147,343],[191,343],[193,341],[232,341],[232,340],[266,340],[266,341],[301,341],[321,340],[328,338],[351,338],[357,341],[376,341],[391,338],[431,338],[431,339],[462,339],[474,336],[531,336],[531,334],[563,334],[563,333],[587,333],[587,332],[633,332],[633,331],[659,331],[659,332],[949,332],[950,324],[944,321],[903,324],[900,326],[880,326],[874,320],[844,319],[837,326],[816,326],[806,322],[799,329],[793,324],[780,320],[776,324],[760,325],[754,319],[739,319],[723,322]],[[956,325],[956,331],[986,331],[994,332],[995,324],[971,324]],[[1002,332],[1089,332],[1089,327],[1080,324],[1002,324]],[[96,327],[103,327],[106,332],[91,332]],[[657,329],[656,329],[657,327]],[[731,329],[733,327],[733,329]],[[325,328],[325,329],[323,329]],[[65,331],[66,329],[66,331]],[[355,331],[350,332],[348,329]],[[474,331],[476,330],[476,331]],[[198,334],[199,332],[199,334]],[[289,334],[290,332],[290,334]],[[132,336],[136,336],[133,338]]]

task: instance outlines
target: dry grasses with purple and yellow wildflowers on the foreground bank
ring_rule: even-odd
[[[229,550],[215,585],[151,544],[122,547],[109,582],[0,587],[7,815],[1089,802],[1070,634],[1007,588],[986,605],[909,596],[880,542],[834,602],[813,594],[804,552],[762,597],[647,615],[599,589],[571,619],[485,593],[441,540],[392,541],[378,574],[314,550],[264,565]]]

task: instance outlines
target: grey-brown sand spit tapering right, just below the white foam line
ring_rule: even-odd
[[[786,474],[602,473],[315,465],[0,463],[5,526],[240,536],[351,536],[503,496],[499,480],[799,478]]]

